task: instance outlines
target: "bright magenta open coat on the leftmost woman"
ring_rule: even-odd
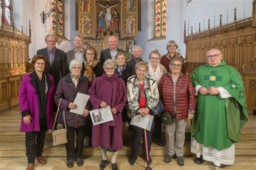
[[[55,91],[55,84],[53,77],[50,74],[46,74],[48,81],[48,95],[47,95],[47,108],[46,108],[46,119],[48,129],[52,129],[53,126],[53,114],[52,114],[52,104],[53,104],[53,93]],[[21,132],[39,132],[39,111],[38,111],[38,96],[36,90],[35,72],[26,74],[19,87],[19,107],[22,112],[22,117],[30,114],[31,123],[29,125],[24,124],[23,118],[21,119]]]

